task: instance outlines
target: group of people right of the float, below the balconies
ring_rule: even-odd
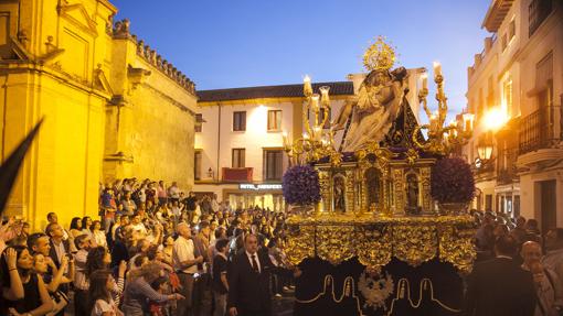
[[[538,220],[471,211],[477,260],[467,277],[466,315],[563,315],[563,229]]]

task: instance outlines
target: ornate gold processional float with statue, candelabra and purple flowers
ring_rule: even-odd
[[[294,205],[286,252],[295,265],[319,258],[336,266],[357,258],[367,271],[381,271],[395,258],[412,268],[438,260],[460,274],[471,270],[475,228],[467,206],[474,182],[470,171],[468,183],[459,179],[459,159],[453,156],[470,138],[472,117],[445,126],[444,77],[435,63],[438,106],[435,112],[428,109],[424,74],[418,100],[428,124],[419,126],[405,97],[408,72],[392,69],[394,62],[394,50],[380,36],[364,53],[369,74],[358,94],[330,124],[329,87],[315,94],[310,78],[305,78],[306,132],[293,143],[284,133],[290,160],[284,195]],[[337,133],[343,134],[340,144]],[[442,160],[454,163],[436,170]],[[459,196],[458,190],[468,194]],[[362,292],[365,304],[384,305],[381,301],[387,297],[370,302],[368,292]]]

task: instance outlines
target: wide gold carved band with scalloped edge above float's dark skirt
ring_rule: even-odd
[[[332,264],[353,257],[376,269],[393,257],[413,266],[438,258],[461,273],[476,258],[469,215],[394,216],[331,213],[288,218],[287,255],[291,264],[318,255]]]

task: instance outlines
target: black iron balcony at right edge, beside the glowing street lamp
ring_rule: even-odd
[[[560,142],[561,127],[555,129],[556,122],[561,123],[561,108],[552,106],[523,118],[519,129],[519,154],[548,149]]]

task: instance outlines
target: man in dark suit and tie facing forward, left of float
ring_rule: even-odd
[[[244,238],[245,251],[235,255],[227,272],[231,316],[269,316],[272,297],[269,274],[274,264],[266,253],[258,252],[258,238],[248,233]]]

